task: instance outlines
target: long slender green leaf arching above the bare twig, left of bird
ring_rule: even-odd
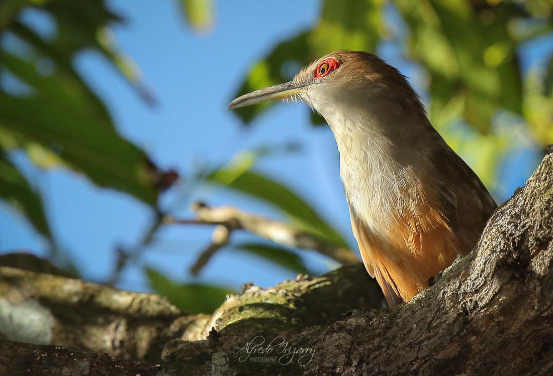
[[[245,167],[250,166],[231,164],[211,172],[206,180],[264,200],[288,214],[302,230],[309,231],[336,245],[346,246],[343,237],[298,195],[283,184],[262,174],[248,171]]]

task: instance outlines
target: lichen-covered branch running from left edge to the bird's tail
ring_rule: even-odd
[[[11,255],[1,261],[12,264],[14,259]],[[41,261],[40,270],[50,271],[45,263]],[[213,315],[186,315],[154,294],[0,266],[0,334],[7,339],[146,362],[161,361],[172,340],[205,340],[216,321],[218,329],[230,325],[237,311],[260,314],[259,320],[251,317],[251,328],[270,321],[273,328],[300,329],[336,321],[348,310],[382,306],[382,293],[362,264],[316,278],[299,276],[267,290],[249,285]],[[320,313],[312,315],[312,309]]]

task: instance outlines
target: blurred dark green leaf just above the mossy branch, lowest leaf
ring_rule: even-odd
[[[234,290],[202,283],[176,283],[153,268],[146,275],[154,291],[187,314],[213,313]]]

